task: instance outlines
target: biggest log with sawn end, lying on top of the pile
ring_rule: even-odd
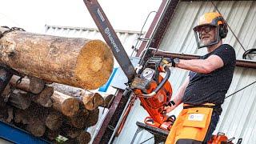
[[[105,84],[114,66],[110,48],[100,40],[18,30],[0,39],[0,54],[2,63],[22,74],[87,90]]]

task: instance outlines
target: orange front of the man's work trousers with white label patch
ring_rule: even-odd
[[[186,108],[186,106],[191,108]],[[182,112],[171,127],[166,144],[202,143],[206,137],[214,104],[193,106],[184,104]]]

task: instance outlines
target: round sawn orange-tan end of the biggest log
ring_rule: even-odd
[[[75,76],[87,90],[94,90],[106,83],[114,66],[113,54],[102,41],[87,42],[78,55]],[[85,69],[88,67],[88,69]]]

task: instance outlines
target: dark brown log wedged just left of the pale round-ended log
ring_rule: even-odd
[[[38,95],[31,96],[32,100],[44,107],[53,106],[53,102],[51,100],[51,96],[54,94],[54,88],[50,86],[46,86],[44,90]]]

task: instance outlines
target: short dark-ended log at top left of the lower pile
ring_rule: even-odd
[[[10,78],[10,85],[16,86],[16,82],[20,77],[17,75],[13,75]],[[45,82],[38,78],[22,78],[22,82],[20,82],[17,86],[18,89],[25,90],[27,92],[33,94],[39,94],[45,87]]]

